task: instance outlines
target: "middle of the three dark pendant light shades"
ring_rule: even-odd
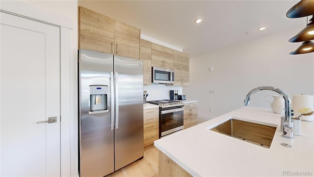
[[[289,42],[303,42],[303,41],[313,40],[314,39],[314,16],[312,17],[310,21],[311,23],[309,23],[304,29],[302,29],[294,37],[289,39]]]

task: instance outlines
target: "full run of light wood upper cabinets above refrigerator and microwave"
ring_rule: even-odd
[[[140,39],[140,29],[78,7],[78,48],[143,61],[143,83],[152,84],[152,66],[175,70],[174,86],[189,85],[189,56]]]

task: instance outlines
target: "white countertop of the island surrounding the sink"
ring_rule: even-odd
[[[281,116],[270,109],[242,107],[159,139],[154,145],[195,177],[314,176],[314,122],[302,121],[302,135],[291,140],[281,136]],[[207,129],[230,117],[277,124],[270,148]]]

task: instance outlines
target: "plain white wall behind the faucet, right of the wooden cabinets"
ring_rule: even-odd
[[[290,29],[190,59],[189,99],[199,100],[200,118],[215,118],[243,106],[246,94],[260,86],[293,94],[314,94],[314,53],[289,55],[301,43],[289,43],[304,27]],[[209,71],[213,67],[213,71]],[[216,90],[216,93],[209,93]],[[262,90],[251,96],[249,106],[270,108]],[[278,94],[277,94],[278,95]],[[212,109],[212,112],[209,112]]]

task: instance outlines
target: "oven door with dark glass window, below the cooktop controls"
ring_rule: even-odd
[[[183,108],[160,111],[159,137],[183,129]]]

